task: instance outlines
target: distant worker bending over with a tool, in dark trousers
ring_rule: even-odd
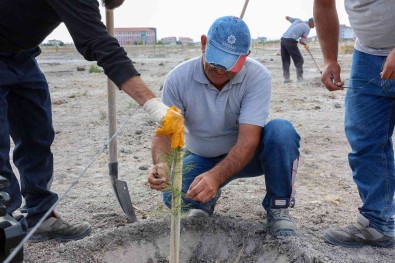
[[[292,82],[289,73],[291,58],[296,68],[297,80],[298,82],[301,82],[303,81],[304,59],[298,48],[298,42],[304,45],[305,48],[309,48],[307,45],[307,36],[310,33],[310,29],[314,28],[314,18],[310,18],[308,21],[303,21],[299,18],[286,16],[285,19],[292,24],[281,37],[281,61],[283,65],[284,83]]]

